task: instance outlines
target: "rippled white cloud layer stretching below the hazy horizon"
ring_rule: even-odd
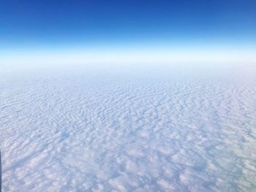
[[[124,71],[2,79],[3,190],[255,190],[255,86]]]

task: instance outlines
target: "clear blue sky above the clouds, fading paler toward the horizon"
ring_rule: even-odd
[[[111,50],[253,53],[255,45],[255,0],[0,1],[5,62],[20,55],[91,50],[94,55]]]

